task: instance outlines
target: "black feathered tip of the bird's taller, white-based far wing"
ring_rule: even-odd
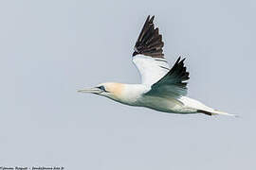
[[[137,38],[133,56],[142,54],[152,58],[164,58],[162,49],[164,42],[162,41],[162,35],[159,34],[158,27],[155,28],[154,18],[155,16],[151,18],[150,15],[148,16]]]

